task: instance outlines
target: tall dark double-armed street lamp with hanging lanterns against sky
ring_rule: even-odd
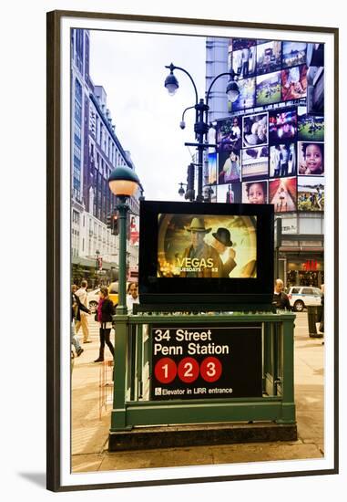
[[[186,142],[186,146],[196,146],[198,150],[198,193],[196,197],[197,202],[203,202],[204,196],[202,194],[202,166],[203,166],[203,152],[209,148],[209,147],[214,147],[215,145],[209,144],[207,141],[207,134],[209,132],[209,124],[208,124],[208,111],[209,111],[209,93],[210,90],[215,83],[215,81],[223,77],[225,75],[230,76],[230,82],[228,83],[226,93],[228,94],[228,97],[231,102],[234,102],[236,99],[238,99],[240,95],[240,90],[238,87],[238,84],[233,80],[234,78],[234,71],[231,70],[230,72],[225,72],[225,73],[220,73],[216,78],[214,78],[209,86],[209,90],[206,93],[206,103],[204,99],[199,99],[198,98],[198,90],[197,86],[195,85],[195,82],[191,75],[189,74],[189,71],[187,71],[184,68],[180,68],[175,66],[173,63],[170,65],[166,66],[165,68],[168,68],[170,70],[168,77],[165,79],[165,87],[168,89],[168,94],[171,96],[175,94],[177,89],[179,89],[179,81],[174,75],[174,70],[179,69],[180,71],[183,71],[189,79],[190,82],[193,85],[194,92],[195,92],[195,105],[186,108],[183,111],[182,115],[182,120],[179,123],[179,127],[181,129],[185,128],[185,122],[184,122],[184,114],[187,110],[194,108],[195,109],[195,123],[194,123],[194,131],[195,131],[195,138],[197,140],[196,143],[188,143]]]

